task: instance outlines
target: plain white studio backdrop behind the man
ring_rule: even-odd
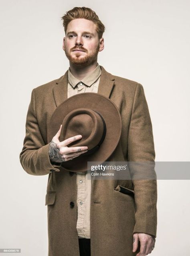
[[[67,10],[75,6],[95,10],[106,27],[98,63],[143,85],[156,161],[190,161],[190,2],[68,2],[0,1],[0,248],[21,248],[22,256],[45,256],[48,251],[48,175],[28,175],[19,154],[32,89],[59,78],[69,67],[62,50],[61,23]],[[158,181],[153,256],[190,255],[189,186],[189,180]]]

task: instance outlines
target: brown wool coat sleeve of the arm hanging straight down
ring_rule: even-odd
[[[155,163],[154,138],[149,109],[141,84],[135,89],[133,109],[128,132],[128,161]],[[154,169],[154,168],[153,168]],[[147,233],[156,237],[157,230],[157,181],[135,179],[139,169],[133,170],[135,192],[135,227],[133,233]],[[154,170],[153,170],[154,171]],[[142,173],[141,173],[142,175]],[[152,177],[155,177],[153,175]]]

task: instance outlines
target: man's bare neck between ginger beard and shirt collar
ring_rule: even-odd
[[[97,60],[88,66],[77,66],[70,62],[70,71],[77,79],[82,80],[97,67]]]

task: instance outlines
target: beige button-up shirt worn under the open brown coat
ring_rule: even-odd
[[[97,93],[101,68],[97,63],[95,70],[91,71],[81,81],[68,70],[67,97],[78,93]],[[87,179],[87,172],[77,172],[77,233],[81,238],[90,238],[90,202],[91,180]]]

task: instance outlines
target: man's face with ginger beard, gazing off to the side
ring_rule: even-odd
[[[75,19],[69,22],[63,50],[71,63],[80,66],[92,64],[103,48],[103,38],[99,40],[93,21]]]

